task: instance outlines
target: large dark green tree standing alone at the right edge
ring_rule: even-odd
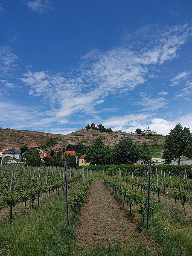
[[[183,128],[180,124],[175,125],[166,137],[163,158],[178,158],[180,164],[181,156],[190,155],[190,145],[192,145],[192,133],[189,128]]]

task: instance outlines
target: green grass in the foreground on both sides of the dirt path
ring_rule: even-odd
[[[93,172],[100,179],[102,172]],[[78,184],[70,190],[72,194]],[[0,254],[12,256],[189,256],[192,255],[192,221],[173,211],[166,212],[161,203],[151,201],[154,214],[150,215],[146,231],[159,244],[160,250],[151,252],[141,242],[131,246],[101,244],[81,250],[76,243],[75,227],[78,217],[71,216],[66,224],[64,193],[50,198],[47,205],[20,215],[13,221],[0,224]]]

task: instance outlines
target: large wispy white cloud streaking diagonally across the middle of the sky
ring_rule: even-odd
[[[185,24],[166,28],[159,34],[154,31],[152,43],[139,50],[127,44],[106,52],[88,52],[82,57],[81,65],[77,72],[74,70],[73,76],[70,73],[29,71],[21,80],[30,87],[31,96],[43,98],[60,118],[78,111],[96,114],[96,106],[105,102],[110,94],[134,90],[144,84],[151,73],[154,74],[154,67],[175,58],[177,49],[189,37],[190,29]],[[142,100],[137,105],[144,107],[143,111],[148,106],[152,111],[165,108],[165,93],[161,92],[154,99],[141,94]]]

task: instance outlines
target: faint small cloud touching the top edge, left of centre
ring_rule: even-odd
[[[38,12],[39,14],[47,12],[49,9],[52,9],[51,0],[33,0],[27,1],[24,4],[32,11]]]

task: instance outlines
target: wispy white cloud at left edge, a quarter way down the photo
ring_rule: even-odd
[[[9,46],[0,46],[0,70],[3,73],[10,71],[15,67],[15,61],[18,59]]]

